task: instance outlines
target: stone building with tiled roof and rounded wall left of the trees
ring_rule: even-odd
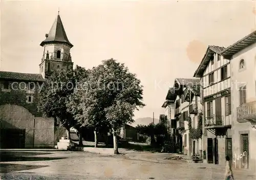
[[[37,110],[44,78],[0,72],[0,148],[54,147],[54,120]]]

